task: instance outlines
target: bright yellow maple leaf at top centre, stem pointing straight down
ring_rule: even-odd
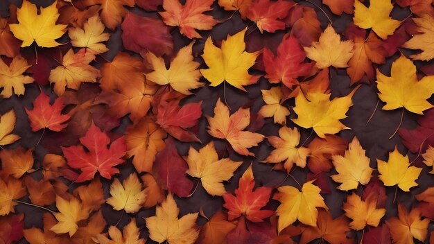
[[[235,35],[227,35],[222,41],[221,48],[214,46],[211,37],[208,37],[203,49],[202,58],[209,69],[200,69],[200,73],[216,87],[222,82],[245,91],[243,86],[256,83],[259,76],[252,76],[248,69],[253,66],[260,51],[248,53],[245,51],[244,35],[247,28]]]

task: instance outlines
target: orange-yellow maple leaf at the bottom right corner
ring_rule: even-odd
[[[421,219],[419,209],[412,209],[408,213],[406,207],[398,203],[398,216],[385,220],[390,229],[393,243],[407,244],[414,243],[413,238],[424,242],[428,234],[428,225],[430,220]]]

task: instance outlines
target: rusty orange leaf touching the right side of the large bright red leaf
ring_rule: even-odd
[[[133,157],[132,164],[138,173],[152,171],[155,155],[166,146],[163,141],[166,135],[166,132],[159,128],[150,116],[146,116],[137,125],[131,125],[127,129],[126,157]]]

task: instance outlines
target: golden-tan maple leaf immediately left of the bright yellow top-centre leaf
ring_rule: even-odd
[[[202,77],[198,70],[199,63],[193,61],[193,44],[184,46],[171,62],[171,67],[166,69],[163,58],[157,58],[153,53],[146,53],[146,58],[154,71],[147,73],[146,78],[158,85],[171,85],[182,94],[190,95],[190,89],[202,87],[205,83],[198,82]]]

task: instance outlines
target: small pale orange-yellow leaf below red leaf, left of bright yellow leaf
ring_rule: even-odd
[[[281,88],[271,87],[269,90],[261,90],[261,92],[262,99],[266,102],[266,105],[263,105],[258,113],[264,118],[273,117],[275,123],[284,125],[286,123],[286,116],[289,115],[289,110],[281,105],[284,96]]]

